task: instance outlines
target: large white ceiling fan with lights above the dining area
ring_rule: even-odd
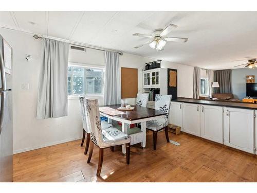
[[[149,44],[149,46],[153,49],[156,49],[157,51],[163,50],[164,45],[166,44],[166,41],[171,42],[187,42],[188,38],[175,38],[175,37],[167,37],[168,33],[172,31],[172,29],[176,28],[177,26],[174,24],[168,25],[164,30],[163,29],[156,29],[153,31],[151,35],[141,34],[141,33],[135,33],[133,36],[139,36],[139,37],[145,37],[145,38],[151,38],[151,40],[145,42],[144,44],[138,45],[134,48],[142,47],[146,44]]]

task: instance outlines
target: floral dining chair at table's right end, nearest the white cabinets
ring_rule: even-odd
[[[154,140],[154,150],[156,150],[157,133],[158,131],[165,129],[165,135],[167,142],[170,142],[168,133],[168,116],[170,111],[171,95],[155,95],[155,109],[167,113],[165,117],[146,121],[146,129],[152,130]]]

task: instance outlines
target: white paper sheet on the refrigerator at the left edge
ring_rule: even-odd
[[[12,48],[7,43],[7,41],[3,40],[3,52],[4,52],[4,63],[5,63],[5,73],[12,74]]]

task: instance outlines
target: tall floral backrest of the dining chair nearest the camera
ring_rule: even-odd
[[[86,121],[90,130],[90,139],[98,146],[103,144],[102,127],[97,99],[85,98]]]

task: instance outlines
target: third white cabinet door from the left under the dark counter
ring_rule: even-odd
[[[201,105],[201,137],[223,144],[223,107]]]

